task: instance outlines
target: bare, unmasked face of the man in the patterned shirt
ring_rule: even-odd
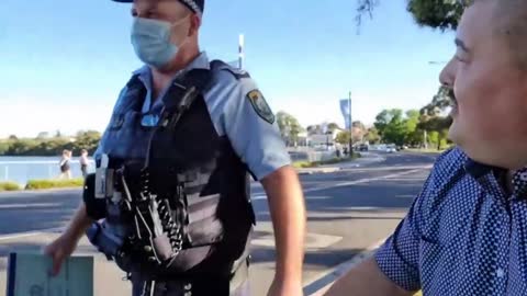
[[[440,81],[457,101],[449,137],[478,161],[515,169],[527,164],[527,71],[498,32],[496,3],[467,9]]]

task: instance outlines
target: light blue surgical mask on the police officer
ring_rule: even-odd
[[[176,57],[180,46],[170,42],[171,29],[187,18],[169,22],[135,18],[132,25],[132,45],[135,54],[146,65],[161,68]]]

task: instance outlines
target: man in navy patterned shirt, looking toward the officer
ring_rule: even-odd
[[[527,1],[463,1],[444,152],[377,253],[326,295],[527,295]]]

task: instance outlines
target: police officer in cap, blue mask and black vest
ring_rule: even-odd
[[[199,48],[203,0],[133,2],[145,66],[120,93],[83,203],[45,252],[57,274],[79,239],[126,272],[133,295],[248,295],[262,183],[277,263],[269,295],[302,295],[305,209],[273,113],[249,75]]]

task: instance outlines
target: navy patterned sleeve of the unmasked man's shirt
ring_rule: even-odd
[[[375,253],[380,270],[406,291],[421,288],[419,244],[423,229],[423,203],[431,191],[430,177],[415,198],[406,217]]]

